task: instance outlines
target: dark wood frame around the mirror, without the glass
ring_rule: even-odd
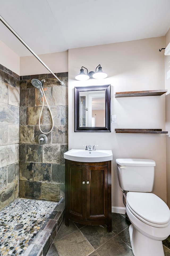
[[[79,126],[79,93],[81,91],[105,91],[105,127]],[[111,132],[111,85],[75,87],[74,89],[74,131],[75,132]]]

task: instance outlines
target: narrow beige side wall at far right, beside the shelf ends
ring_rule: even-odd
[[[165,35],[165,47],[170,42],[170,29]],[[170,135],[170,79],[167,79],[167,71],[169,70],[170,56],[165,56],[165,89],[166,93],[166,130]],[[170,207],[170,137],[166,137],[166,157],[167,157],[167,205]]]

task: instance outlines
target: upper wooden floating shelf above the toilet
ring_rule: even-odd
[[[120,91],[116,92],[115,98],[118,97],[140,97],[140,96],[160,96],[168,90],[152,90],[152,91]]]

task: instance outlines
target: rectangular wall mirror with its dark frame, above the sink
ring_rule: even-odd
[[[111,132],[111,86],[75,87],[74,131]]]

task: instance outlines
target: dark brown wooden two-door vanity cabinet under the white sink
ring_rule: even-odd
[[[107,224],[112,230],[111,161],[85,163],[65,159],[65,224]]]

